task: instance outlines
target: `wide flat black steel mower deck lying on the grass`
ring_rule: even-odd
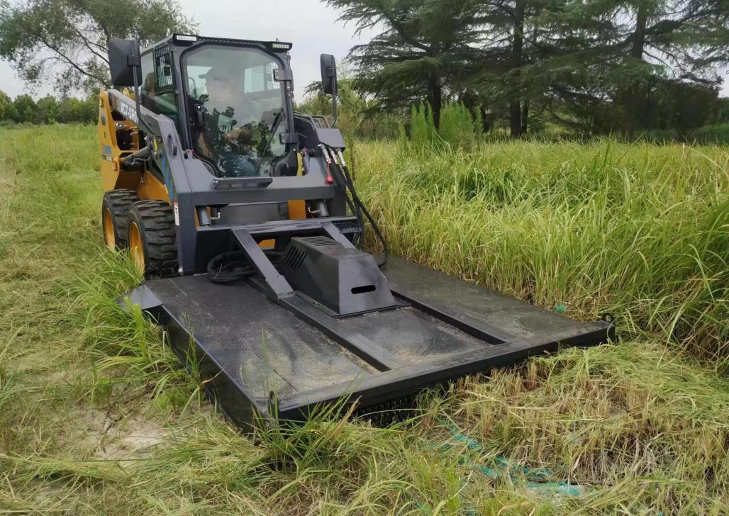
[[[298,295],[275,302],[253,280],[219,285],[207,275],[147,281],[130,300],[168,329],[184,362],[195,353],[208,394],[242,427],[254,412],[297,419],[346,395],[361,407],[413,396],[614,333],[608,322],[572,321],[402,259],[382,270],[401,306],[359,316],[331,316]]]

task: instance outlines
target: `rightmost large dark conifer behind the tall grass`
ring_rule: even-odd
[[[572,103],[617,103],[628,137],[655,84],[719,85],[717,71],[729,63],[726,0],[572,1],[567,12],[571,23],[555,32],[555,45],[572,47],[572,74],[554,91]]]

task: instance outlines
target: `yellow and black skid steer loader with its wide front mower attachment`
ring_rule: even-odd
[[[174,34],[140,52],[115,39],[124,90],[100,94],[106,245],[130,249],[147,281],[129,299],[195,357],[231,420],[296,421],[340,399],[373,410],[612,337],[610,321],[387,259],[340,131],[292,107],[291,46]],[[331,55],[321,78],[336,113]],[[366,225],[384,255],[362,251]]]

